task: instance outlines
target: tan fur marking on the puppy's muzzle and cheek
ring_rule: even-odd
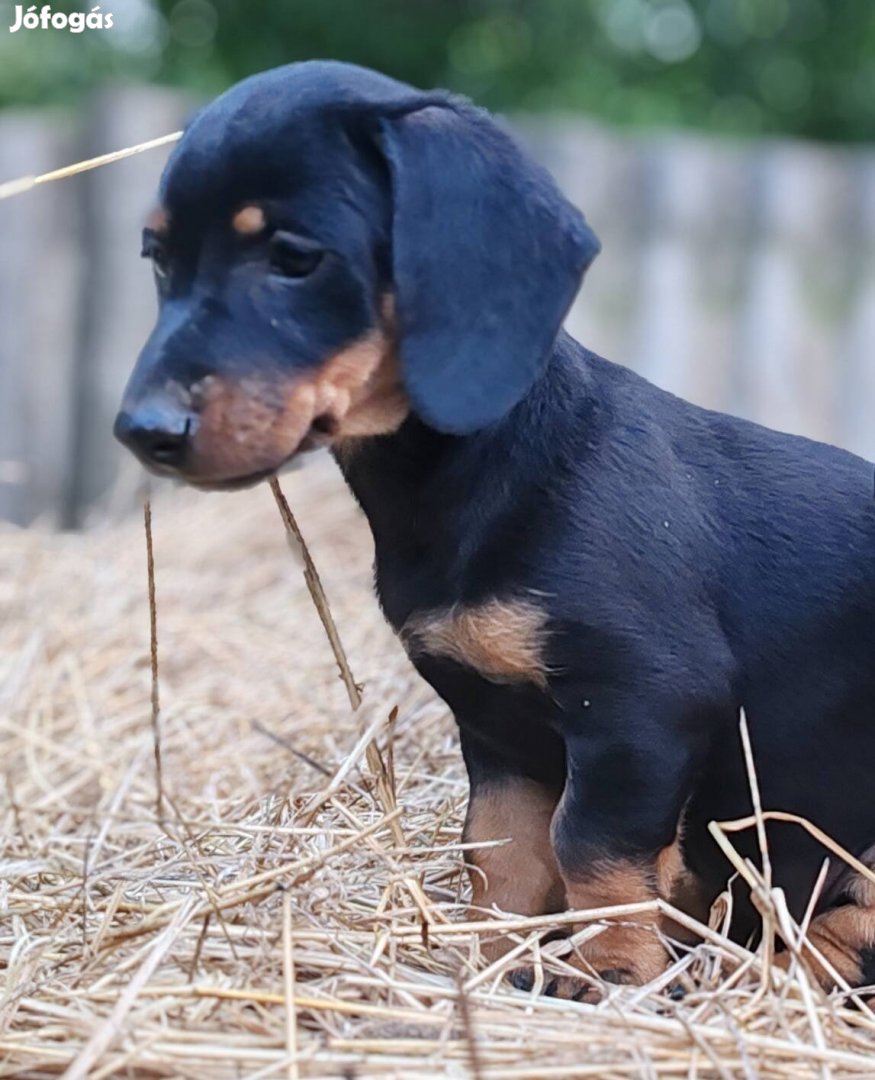
[[[307,374],[233,382],[207,376],[191,388],[191,401],[198,427],[188,478],[194,483],[272,471],[309,445],[388,434],[409,411],[398,356],[382,329]],[[318,418],[320,431],[311,433]]]

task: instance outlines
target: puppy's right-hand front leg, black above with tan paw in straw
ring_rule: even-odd
[[[551,826],[570,909],[669,899],[683,872],[677,833],[695,755],[671,714],[637,701],[593,706],[566,737],[568,774]],[[588,975],[640,985],[668,964],[648,913],[609,921],[570,959]],[[579,997],[585,980],[561,978],[550,993]]]

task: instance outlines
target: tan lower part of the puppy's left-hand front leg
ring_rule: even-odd
[[[471,796],[465,822],[466,843],[508,840],[466,852],[471,878],[471,918],[479,908],[514,915],[546,915],[565,906],[562,877],[550,842],[550,822],[558,794],[531,780],[513,779]],[[506,937],[484,943],[490,960],[511,946]]]

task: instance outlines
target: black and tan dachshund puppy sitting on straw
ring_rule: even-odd
[[[332,447],[386,617],[458,720],[466,839],[512,838],[471,854],[477,908],[706,905],[728,870],[708,822],[751,809],[741,708],[766,808],[872,865],[872,467],[571,340],[597,251],[469,103],[336,63],[256,76],[164,172],[160,318],[116,432],[205,488]],[[823,851],[769,839],[799,915]],[[551,991],[651,978],[658,929],[609,926]],[[836,862],[810,937],[875,981],[873,879]]]

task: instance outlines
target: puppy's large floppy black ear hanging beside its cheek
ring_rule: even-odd
[[[430,105],[382,118],[380,133],[407,394],[439,431],[476,431],[543,370],[600,244],[486,113]]]

